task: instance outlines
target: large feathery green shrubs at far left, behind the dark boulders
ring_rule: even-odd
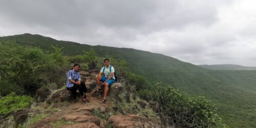
[[[65,81],[67,63],[61,48],[52,48],[54,52],[46,54],[39,48],[24,48],[13,42],[0,44],[1,95],[14,91],[33,96],[41,86]]]

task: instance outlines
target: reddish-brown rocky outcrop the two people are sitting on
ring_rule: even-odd
[[[30,127],[54,127],[53,124],[57,123],[59,120],[67,122],[59,127],[160,127],[159,119],[148,118],[148,113],[140,113],[143,118],[139,115],[126,115],[138,114],[139,111],[137,110],[148,109],[149,106],[157,108],[157,104],[135,100],[137,99],[136,96],[127,91],[126,86],[124,86],[125,84],[120,82],[113,83],[109,88],[106,104],[98,103],[102,98],[103,93],[91,92],[92,90],[97,89],[94,79],[96,74],[97,73],[94,71],[91,71],[91,73],[81,72],[81,78],[85,81],[89,92],[90,102],[82,102],[81,100],[76,101],[76,103],[63,102],[71,100],[71,91],[67,89],[54,91],[55,93],[52,93],[47,99],[47,102],[53,103],[53,105],[48,104],[47,107],[54,107],[54,109],[57,110],[56,112],[53,112],[55,114],[51,115],[51,117],[41,119]],[[104,90],[104,88],[102,89]],[[122,110],[120,106],[112,104],[112,101],[115,103],[135,103],[135,106],[133,106],[134,108],[131,107],[131,109],[136,111]],[[58,105],[58,103],[66,105]],[[124,115],[113,115],[116,114],[116,112]],[[68,122],[71,122],[72,124]]]

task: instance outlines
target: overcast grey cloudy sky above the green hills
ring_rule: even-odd
[[[0,36],[31,33],[161,53],[195,65],[256,66],[254,0],[0,0]]]

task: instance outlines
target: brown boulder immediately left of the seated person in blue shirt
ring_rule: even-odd
[[[51,98],[47,100],[48,103],[51,102],[63,102],[70,101],[72,98],[72,92],[67,89],[61,89],[54,93]]]

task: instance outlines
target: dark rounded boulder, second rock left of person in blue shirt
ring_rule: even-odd
[[[50,96],[50,94],[51,90],[49,90],[48,88],[40,88],[36,90],[35,99],[38,102],[43,102]]]

